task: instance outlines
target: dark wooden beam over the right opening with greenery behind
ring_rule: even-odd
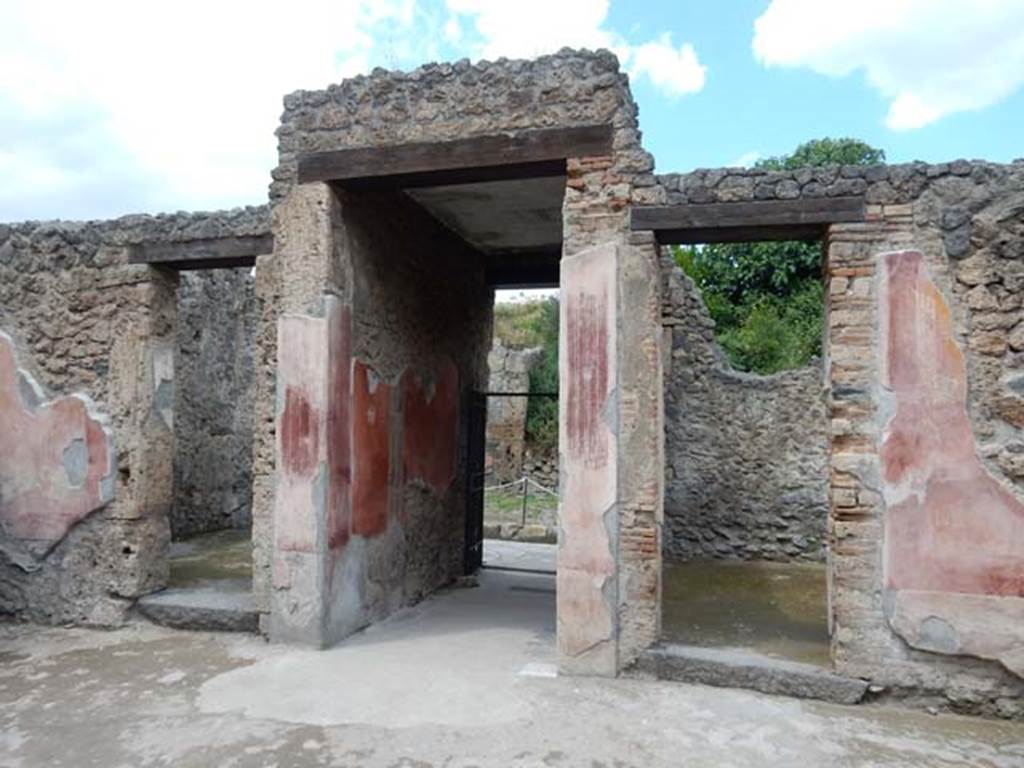
[[[662,244],[817,240],[828,224],[864,220],[860,197],[635,207],[630,225]]]

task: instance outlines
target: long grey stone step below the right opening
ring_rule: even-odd
[[[638,667],[660,680],[746,688],[834,703],[857,703],[867,691],[863,680],[840,677],[814,665],[695,645],[653,646],[641,654]]]

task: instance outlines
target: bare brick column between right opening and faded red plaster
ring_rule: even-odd
[[[830,418],[828,602],[839,672],[870,677],[890,655],[882,605],[884,506],[878,349],[878,254],[911,244],[909,206],[870,206],[829,227],[825,376]]]

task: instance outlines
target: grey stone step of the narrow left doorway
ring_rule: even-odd
[[[140,598],[135,609],[151,622],[179,630],[259,631],[252,591],[230,584],[163,590]]]

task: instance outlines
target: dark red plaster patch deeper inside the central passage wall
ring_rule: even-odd
[[[444,493],[455,473],[459,426],[459,371],[446,359],[433,377],[433,393],[412,370],[401,379],[402,467],[407,480]]]

